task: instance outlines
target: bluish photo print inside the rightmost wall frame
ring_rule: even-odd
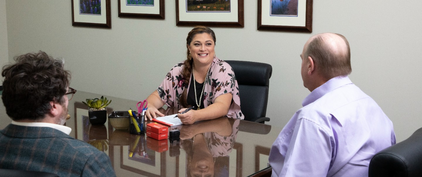
[[[271,16],[298,16],[298,0],[271,0]]]

